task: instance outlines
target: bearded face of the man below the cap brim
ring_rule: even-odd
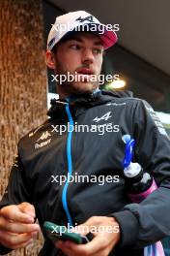
[[[67,81],[58,83],[60,96],[91,93],[99,87],[97,78],[102,65],[103,47],[98,36],[77,32],[66,42],[59,43],[53,54],[56,75],[67,76]],[[68,81],[69,73],[76,74],[76,80]],[[96,79],[92,81],[92,77]]]

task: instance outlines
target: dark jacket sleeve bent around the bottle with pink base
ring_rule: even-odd
[[[158,188],[112,216],[120,224],[121,246],[144,247],[170,236],[170,140],[148,103],[137,100],[132,120],[134,161],[154,176]]]

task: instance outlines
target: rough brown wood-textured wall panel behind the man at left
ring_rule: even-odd
[[[0,194],[18,139],[44,121],[46,69],[41,0],[0,0]],[[42,239],[9,255],[38,255]]]

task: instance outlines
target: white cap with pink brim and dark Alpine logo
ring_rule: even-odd
[[[99,35],[103,48],[110,48],[117,42],[117,35],[112,27],[104,25],[85,11],[57,16],[49,31],[47,49],[51,50],[64,36],[71,31],[88,31]]]

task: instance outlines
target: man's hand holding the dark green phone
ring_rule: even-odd
[[[120,240],[119,224],[114,217],[91,217],[74,231],[81,235],[91,232],[94,239],[78,245],[71,241],[57,241],[56,246],[68,256],[107,256]]]

